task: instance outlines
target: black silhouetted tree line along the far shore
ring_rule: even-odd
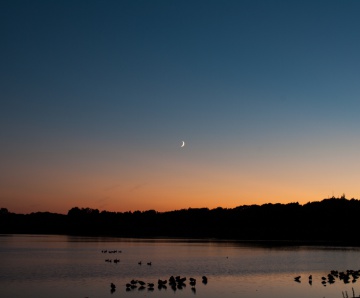
[[[0,233],[116,237],[215,238],[243,241],[360,245],[360,201],[329,198],[304,205],[109,212],[74,207],[65,214],[15,214],[0,209]]]

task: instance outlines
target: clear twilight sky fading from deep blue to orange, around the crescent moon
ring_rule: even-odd
[[[355,0],[1,0],[0,207],[360,198],[359,14]]]

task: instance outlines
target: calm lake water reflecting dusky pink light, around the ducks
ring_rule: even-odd
[[[102,253],[121,250],[121,253]],[[105,262],[120,259],[120,262]],[[142,261],[142,265],[138,262]],[[152,262],[149,266],[146,263]],[[249,246],[235,242],[0,235],[0,297],[341,298],[360,280],[321,284],[330,270],[360,269],[359,248]],[[313,275],[309,285],[308,276]],[[186,287],[126,292],[132,279],[187,277]],[[208,283],[201,282],[206,275]],[[301,283],[294,277],[301,275]],[[189,277],[197,279],[196,291]],[[110,291],[110,283],[117,288]]]

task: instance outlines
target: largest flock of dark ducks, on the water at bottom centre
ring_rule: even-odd
[[[190,277],[189,278],[189,284],[191,286],[191,291],[193,293],[196,293],[196,279],[193,278],[193,277]],[[162,290],[162,289],[167,289],[167,285],[169,285],[171,287],[171,289],[173,291],[176,291],[176,290],[182,290],[183,288],[186,287],[186,277],[180,277],[180,276],[176,276],[174,277],[173,275],[170,276],[170,278],[167,280],[167,279],[158,279],[158,282],[157,282],[157,288],[159,290]],[[208,282],[208,279],[207,277],[204,275],[202,277],[202,283],[203,284],[207,284]],[[154,288],[155,288],[155,283],[146,283],[142,280],[136,280],[136,279],[133,279],[131,280],[129,283],[127,283],[126,285],[126,291],[132,291],[132,290],[135,290],[135,289],[138,289],[139,291],[143,291],[145,289],[147,289],[148,291],[154,291]],[[115,292],[116,290],[116,285],[114,283],[111,283],[110,284],[110,289],[111,289],[111,293]]]

